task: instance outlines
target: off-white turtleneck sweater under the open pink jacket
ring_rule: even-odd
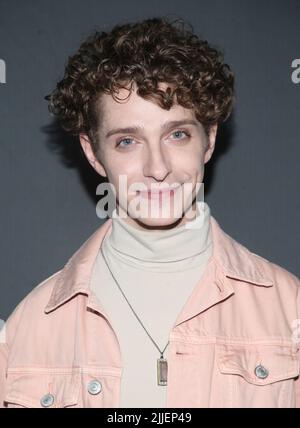
[[[198,204],[200,211],[188,227],[153,231],[128,224],[115,209],[111,233],[102,242],[110,269],[161,351],[212,255],[210,208],[205,202]],[[120,344],[120,407],[166,407],[167,387],[157,385],[160,353],[120,292],[100,250],[91,288]]]

